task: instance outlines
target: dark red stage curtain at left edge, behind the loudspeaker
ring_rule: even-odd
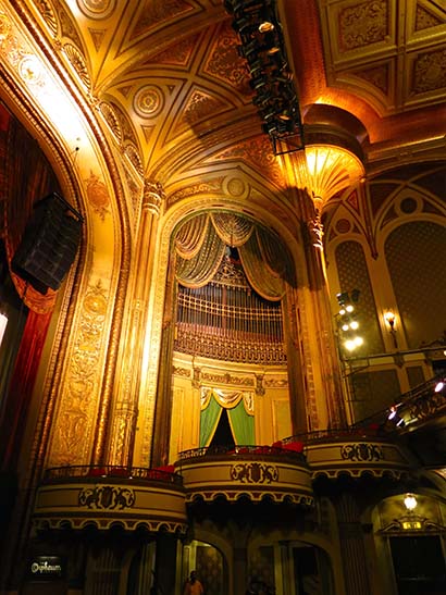
[[[37,141],[2,106],[0,112],[1,151],[4,157],[0,160],[0,204],[3,208],[1,232],[8,262],[11,265],[11,259],[33,212],[33,204],[52,191],[60,193],[60,187]],[[11,360],[8,369],[1,367],[2,379],[11,377],[9,383],[0,383],[0,454],[3,455],[3,469],[12,468],[18,455],[17,445],[22,442],[34,383],[55,303],[54,292],[49,290],[42,296],[18,276],[11,272],[10,274],[21,300],[27,308],[22,307],[20,313],[21,319],[25,317],[23,335],[13,337],[14,343],[20,342],[15,362]],[[21,332],[17,325],[16,333]]]

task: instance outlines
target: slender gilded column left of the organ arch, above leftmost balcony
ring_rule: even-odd
[[[133,298],[125,340],[122,345],[122,373],[116,393],[111,433],[110,464],[132,466],[138,418],[143,346],[146,333],[148,298],[153,274],[154,241],[164,193],[159,183],[145,182],[137,253],[133,270]]]

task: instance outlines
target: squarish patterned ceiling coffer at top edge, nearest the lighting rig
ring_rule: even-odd
[[[384,41],[388,33],[388,5],[384,0],[360,2],[339,12],[339,46],[343,50]]]

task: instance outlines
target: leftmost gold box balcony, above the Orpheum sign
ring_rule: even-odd
[[[59,467],[48,469],[34,508],[37,530],[186,531],[185,491],[173,467]]]

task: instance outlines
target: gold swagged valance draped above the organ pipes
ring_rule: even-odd
[[[264,299],[278,301],[286,283],[296,285],[293,260],[280,239],[234,213],[212,212],[186,221],[175,237],[176,278],[185,287],[210,283],[225,255],[236,247],[245,274]]]

